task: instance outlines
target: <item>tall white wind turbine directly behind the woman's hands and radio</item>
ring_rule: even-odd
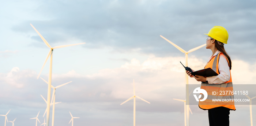
[[[160,35],[161,36],[161,35]],[[203,44],[203,45],[200,45],[200,46],[197,46],[196,48],[193,48],[193,49],[190,49],[188,51],[185,51],[184,49],[180,48],[179,46],[177,46],[176,44],[174,44],[173,42],[171,42],[170,40],[168,40],[167,38],[161,36],[163,39],[165,39],[167,42],[169,42],[170,44],[172,44],[174,47],[176,47],[178,50],[180,50],[182,53],[185,53],[185,59],[186,59],[186,63],[185,63],[185,66],[188,66],[188,53],[191,53],[197,49],[200,49],[202,48],[203,46],[206,46],[206,44]],[[185,74],[185,78],[186,78],[186,84],[188,84],[188,75]],[[189,126],[189,94],[188,94],[188,86],[186,86],[186,98],[187,99],[187,117],[188,117],[188,121],[187,121],[187,124]]]

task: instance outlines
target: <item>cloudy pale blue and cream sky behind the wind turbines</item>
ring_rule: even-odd
[[[206,43],[214,26],[227,29],[225,49],[232,60],[233,84],[256,81],[256,1],[254,0],[0,0],[0,114],[15,126],[44,122],[47,84],[37,76],[49,48],[54,49],[52,85],[56,89],[54,126],[131,126],[133,95],[137,126],[182,126],[185,99],[182,49]],[[188,54],[188,66],[203,69],[211,56],[205,46]],[[48,79],[49,61],[40,77]],[[189,84],[200,84],[189,78]],[[254,97],[255,94],[249,94]],[[246,97],[244,97],[246,98]],[[208,125],[208,113],[191,105],[190,125]],[[230,111],[230,125],[250,125],[249,105]],[[252,106],[253,118],[256,106]],[[52,110],[51,110],[52,111]],[[51,113],[50,113],[51,114]],[[244,118],[241,118],[244,117]],[[51,116],[50,116],[51,118]],[[51,120],[51,119],[50,119]],[[256,120],[253,120],[256,124]],[[39,125],[40,123],[38,123]],[[0,125],[4,117],[0,116]],[[6,126],[11,126],[7,123]]]

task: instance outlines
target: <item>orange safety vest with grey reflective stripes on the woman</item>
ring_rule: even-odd
[[[216,73],[219,74],[219,56],[224,55],[222,52],[218,53],[216,56],[212,57],[211,60],[204,67],[211,68]],[[225,55],[224,55],[225,56]],[[225,56],[226,57],[226,56]],[[227,57],[226,57],[227,59]],[[227,60],[229,63],[229,60]],[[227,107],[231,110],[236,110],[234,105],[234,93],[233,84],[230,73],[230,80],[222,84],[209,84],[208,82],[202,82],[201,89],[206,90],[208,97],[204,101],[199,101],[199,107],[203,110],[212,109],[215,107]],[[214,95],[214,93],[216,94]],[[212,99],[221,99],[221,101],[213,101]]]

